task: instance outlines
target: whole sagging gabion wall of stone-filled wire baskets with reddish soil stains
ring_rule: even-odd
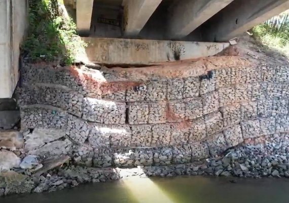
[[[143,81],[85,67],[25,66],[23,78],[22,128],[63,130],[77,160],[95,167],[188,163],[289,132],[289,67]]]

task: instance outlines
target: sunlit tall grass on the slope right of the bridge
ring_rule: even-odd
[[[253,36],[263,45],[289,56],[289,17],[288,11],[251,29]]]

